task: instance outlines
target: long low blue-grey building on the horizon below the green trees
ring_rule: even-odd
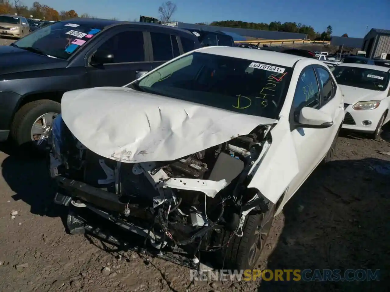
[[[193,28],[208,30],[211,32],[223,31],[236,33],[238,35],[245,35],[246,37],[257,37],[260,39],[273,39],[273,40],[284,40],[284,39],[305,39],[305,33],[293,33],[293,32],[273,32],[269,30],[251,30],[246,28],[232,28],[224,26],[211,26],[211,25],[196,25],[193,23],[177,23],[178,28]]]

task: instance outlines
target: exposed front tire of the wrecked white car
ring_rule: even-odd
[[[253,269],[268,238],[275,212],[275,205],[270,202],[266,213],[249,214],[243,225],[243,236],[233,235],[227,248],[218,256],[219,264],[227,269]],[[231,232],[228,232],[224,240],[229,240],[230,236]]]

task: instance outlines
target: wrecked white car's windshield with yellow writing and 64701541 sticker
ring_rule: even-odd
[[[240,114],[278,118],[291,72],[290,67],[195,52],[128,87]]]

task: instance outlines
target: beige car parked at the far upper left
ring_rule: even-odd
[[[1,14],[0,15],[0,35],[7,37],[21,37],[30,33],[30,26],[23,16]]]

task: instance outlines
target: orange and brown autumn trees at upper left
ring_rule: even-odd
[[[23,5],[20,0],[0,0],[0,14],[15,13],[19,16],[24,16],[25,18],[31,18],[32,15],[32,18],[54,21],[75,17],[93,18],[93,16],[90,16],[88,13],[78,15],[73,9],[58,12],[53,7],[40,4],[39,2],[34,2],[32,7],[29,8]]]

